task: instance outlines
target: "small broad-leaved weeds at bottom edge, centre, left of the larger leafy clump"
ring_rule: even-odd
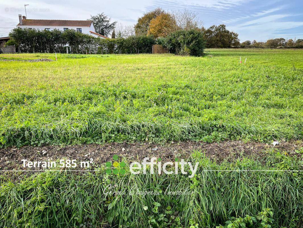
[[[171,206],[167,206],[164,213],[159,213],[161,204],[153,202],[153,205],[154,207],[151,209],[152,215],[148,216],[149,228],[183,228],[180,217],[172,212]],[[143,209],[148,210],[148,206],[143,206]],[[189,228],[199,227],[199,224],[195,223],[194,220],[190,220],[189,224]]]

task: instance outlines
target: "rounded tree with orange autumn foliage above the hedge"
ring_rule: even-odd
[[[176,30],[176,21],[169,13],[161,13],[156,18],[151,19],[147,34],[153,35],[156,38],[159,36],[167,36],[169,33]]]

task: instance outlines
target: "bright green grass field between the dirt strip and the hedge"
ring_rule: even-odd
[[[302,59],[302,50],[209,49],[204,57],[58,54],[57,62],[0,61],[0,141],[301,139]]]

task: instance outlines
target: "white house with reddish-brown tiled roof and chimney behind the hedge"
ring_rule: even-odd
[[[40,20],[40,19],[26,19],[25,16],[19,14],[19,24],[17,28],[30,28],[30,29],[59,29],[65,31],[66,29],[74,29],[79,33],[85,33],[91,36],[100,37],[102,39],[108,38],[96,33],[95,27],[90,20],[75,21],[75,20]]]

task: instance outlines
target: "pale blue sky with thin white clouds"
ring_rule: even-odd
[[[241,42],[303,38],[302,0],[0,0],[0,37],[16,27],[18,14],[25,15],[24,4],[28,19],[86,20],[104,12],[123,25],[134,25],[144,12],[157,7],[189,9],[198,13],[204,27],[223,23]]]

